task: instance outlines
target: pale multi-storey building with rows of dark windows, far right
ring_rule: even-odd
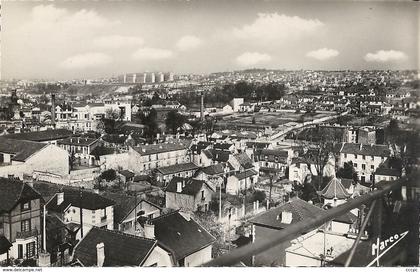
[[[340,167],[352,162],[360,181],[372,183],[376,169],[391,156],[391,150],[386,145],[343,143],[339,154]]]

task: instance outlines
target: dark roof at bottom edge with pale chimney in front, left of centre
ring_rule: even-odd
[[[140,266],[157,242],[140,236],[93,227],[74,250],[74,259],[84,266],[97,265],[96,245],[104,243],[103,266]]]

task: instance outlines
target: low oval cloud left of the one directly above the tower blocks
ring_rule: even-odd
[[[112,62],[112,58],[103,53],[85,53],[67,58],[60,63],[65,69],[84,69],[98,67]]]

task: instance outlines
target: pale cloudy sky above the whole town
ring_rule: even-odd
[[[3,1],[3,79],[417,69],[413,1]]]

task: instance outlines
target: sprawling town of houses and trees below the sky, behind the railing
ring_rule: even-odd
[[[411,226],[406,241],[418,242],[417,76],[256,70],[184,89],[114,83],[101,96],[86,90],[109,85],[3,82],[0,261],[200,266],[400,180],[383,217],[410,218],[390,229]],[[220,90],[230,100],[215,107]],[[198,105],[177,100],[186,93]],[[368,212],[238,265],[344,266]],[[363,227],[362,250],[375,224]],[[398,252],[381,265],[418,261]],[[369,255],[357,254],[351,265],[366,266]]]

